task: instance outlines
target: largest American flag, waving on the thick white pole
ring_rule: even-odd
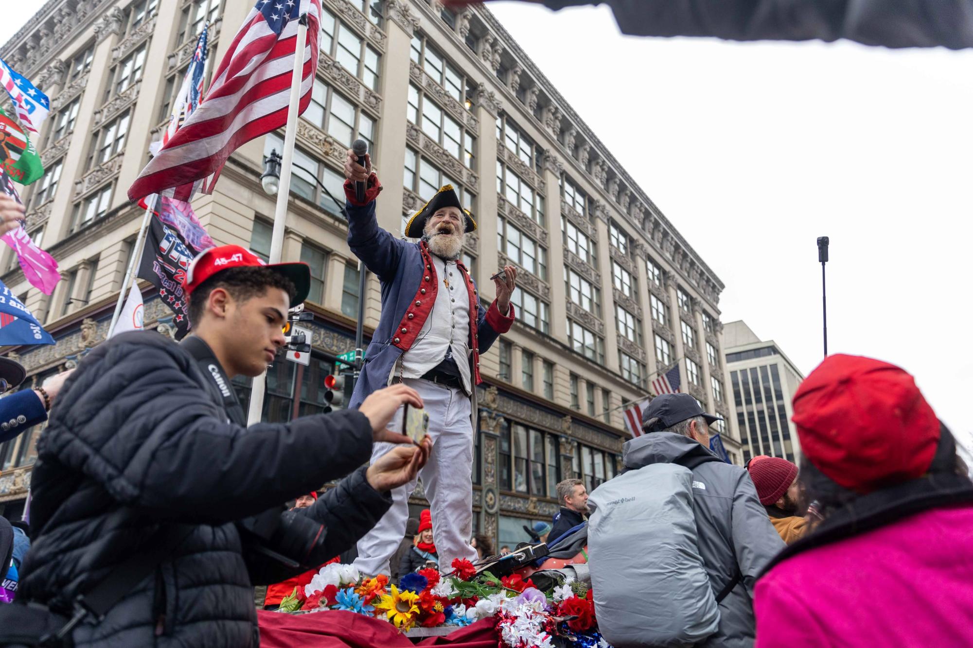
[[[150,193],[189,202],[212,193],[237,147],[287,122],[298,18],[307,43],[298,113],[310,103],[320,36],[321,0],[259,0],[236,32],[206,98],[162,146],[130,188],[132,202]]]

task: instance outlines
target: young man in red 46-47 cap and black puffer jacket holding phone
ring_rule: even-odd
[[[426,452],[411,444],[359,468],[373,441],[409,441],[385,429],[402,403],[422,405],[405,386],[358,410],[246,426],[231,380],[267,368],[308,285],[305,264],[207,250],[186,273],[191,336],[123,333],[65,383],[38,444],[21,593],[77,613],[73,645],[256,646],[253,585],[338,555],[414,478]],[[348,473],[307,508],[280,505]],[[76,606],[107,577],[142,570],[103,617]]]

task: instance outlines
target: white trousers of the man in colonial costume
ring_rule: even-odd
[[[462,390],[443,387],[418,378],[406,378],[403,383],[422,396],[429,415],[429,438],[432,452],[419,470],[425,496],[432,513],[433,539],[439,555],[441,571],[450,571],[453,559],[477,559],[470,546],[473,532],[473,426],[470,422],[470,397]],[[402,408],[388,424],[388,428],[402,431]],[[377,443],[372,449],[372,462],[395,447],[392,443]],[[364,574],[389,574],[391,558],[406,534],[409,520],[409,495],[415,489],[413,480],[392,490],[392,507],[378,521],[375,529],[358,541],[355,566]]]

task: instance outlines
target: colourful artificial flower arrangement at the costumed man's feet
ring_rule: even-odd
[[[415,627],[463,627],[492,617],[507,648],[610,648],[597,632],[592,591],[567,578],[542,592],[520,574],[497,578],[466,560],[453,571],[406,574],[398,586],[388,578],[363,579],[351,565],[321,567],[304,591],[295,588],[280,612],[346,610],[387,621],[402,631]]]

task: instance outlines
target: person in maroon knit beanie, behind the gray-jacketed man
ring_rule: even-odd
[[[746,469],[780,539],[787,544],[801,539],[808,521],[797,515],[800,495],[797,464],[778,457],[760,456],[750,460]]]

